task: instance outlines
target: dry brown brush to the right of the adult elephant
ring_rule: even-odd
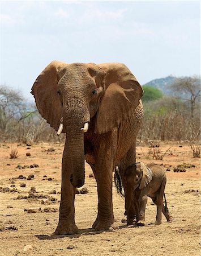
[[[194,118],[189,106],[170,98],[144,104],[143,124],[139,132],[142,141],[200,141],[200,108]]]

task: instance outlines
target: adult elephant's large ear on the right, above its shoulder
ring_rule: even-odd
[[[118,127],[129,112],[139,105],[143,89],[126,65],[103,63],[98,65],[104,72],[104,96],[96,116],[95,133],[106,133]]]

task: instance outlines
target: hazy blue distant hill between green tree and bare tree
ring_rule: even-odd
[[[161,90],[161,92],[164,94],[172,94],[173,92],[172,90],[169,89],[169,85],[172,84],[174,79],[176,79],[176,77],[167,76],[164,78],[151,80],[150,82],[147,82],[147,84],[144,84],[144,85],[153,86]]]

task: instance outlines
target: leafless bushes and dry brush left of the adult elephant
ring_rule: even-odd
[[[63,142],[54,129],[37,112],[36,106],[25,103],[22,93],[6,85],[0,86],[0,141]]]

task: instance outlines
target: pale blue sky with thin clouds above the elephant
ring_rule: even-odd
[[[142,85],[200,75],[200,2],[1,1],[1,85],[31,102],[52,60],[124,63]]]

